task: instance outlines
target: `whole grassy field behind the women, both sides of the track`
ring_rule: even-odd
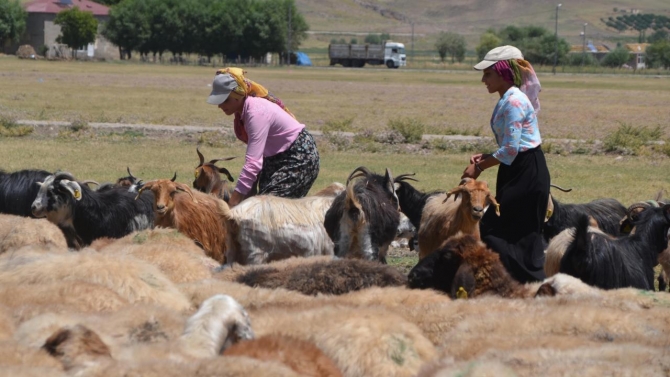
[[[311,130],[338,128],[383,133],[389,120],[404,118],[425,125],[428,134],[490,136],[488,125],[497,98],[475,72],[256,68],[248,76],[280,97]],[[0,116],[13,120],[50,120],[216,126],[229,130],[232,119],[207,105],[212,68],[152,64],[21,61],[0,58]],[[543,137],[577,138],[587,143],[607,137],[622,125],[660,127],[670,137],[670,87],[667,78],[541,75]],[[217,139],[219,138],[219,139]],[[212,143],[210,139],[219,140]],[[112,181],[127,166],[143,179],[191,182],[205,157],[239,156],[225,163],[234,176],[243,164],[244,146],[211,132],[193,137],[154,138],[141,132],[61,133],[0,137],[0,168],[64,169],[80,179]],[[341,150],[319,138],[321,172],[315,189],[343,182],[359,165],[394,174],[415,172],[423,190],[455,186],[472,145],[439,150],[419,146],[375,146]],[[568,154],[547,157],[552,181],[572,187],[556,193],[565,202],[614,197],[624,204],[652,198],[670,187],[670,159],[647,150],[639,156]],[[495,169],[482,179],[495,187]]]

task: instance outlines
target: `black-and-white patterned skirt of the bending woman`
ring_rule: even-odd
[[[306,196],[319,175],[319,152],[312,135],[303,129],[289,149],[263,159],[258,193],[284,198]]]

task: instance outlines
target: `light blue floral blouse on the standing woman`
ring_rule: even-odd
[[[519,152],[542,144],[535,109],[516,86],[502,96],[491,116],[491,129],[500,147],[493,153],[498,161],[512,165]]]

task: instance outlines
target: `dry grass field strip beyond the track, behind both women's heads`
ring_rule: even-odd
[[[249,68],[310,129],[353,119],[354,130],[386,130],[413,118],[427,133],[488,135],[495,95],[471,71]],[[212,68],[0,58],[0,115],[16,119],[223,125],[205,103]],[[545,138],[602,139],[625,123],[666,127],[670,78],[541,74]]]

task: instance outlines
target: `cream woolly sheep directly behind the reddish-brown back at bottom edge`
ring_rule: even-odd
[[[383,308],[322,305],[250,310],[254,333],[310,341],[344,376],[414,376],[436,356],[435,346],[414,324]]]

